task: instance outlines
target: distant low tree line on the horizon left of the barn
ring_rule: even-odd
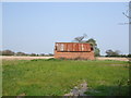
[[[3,51],[0,51],[0,56],[32,56],[32,57],[50,57],[50,56],[53,56],[52,53],[48,53],[48,54],[45,54],[45,53],[25,53],[25,52],[14,52],[12,50],[3,50]]]

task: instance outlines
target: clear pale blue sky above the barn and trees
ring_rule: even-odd
[[[127,2],[3,2],[2,49],[53,53],[55,42],[86,34],[100,54],[108,49],[127,54],[129,26],[119,25],[128,22],[127,10]]]

